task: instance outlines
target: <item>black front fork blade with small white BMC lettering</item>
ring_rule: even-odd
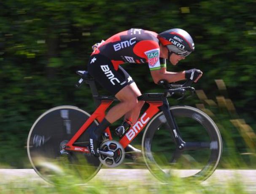
[[[169,109],[169,102],[167,101],[167,98],[163,99],[163,105],[161,106],[161,110],[163,111],[164,116],[167,120],[167,124],[169,125],[169,130],[172,134],[175,145],[179,150],[183,150],[186,143],[182,140],[178,126],[175,123],[175,119]]]

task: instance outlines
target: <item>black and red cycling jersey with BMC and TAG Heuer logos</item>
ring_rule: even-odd
[[[108,59],[115,70],[123,63],[148,63],[150,70],[165,67],[165,59],[160,59],[159,40],[157,33],[132,28],[108,38],[92,52],[101,54]]]

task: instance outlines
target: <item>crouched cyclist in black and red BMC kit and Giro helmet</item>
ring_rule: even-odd
[[[135,29],[120,32],[98,45],[88,62],[89,74],[105,89],[120,100],[119,104],[110,108],[103,121],[90,135],[89,150],[99,156],[99,140],[104,130],[113,122],[124,116],[124,122],[116,129],[121,137],[137,121],[144,102],[138,101],[140,90],[132,77],[120,66],[123,63],[148,63],[155,84],[160,80],[169,83],[191,79],[197,82],[202,71],[197,69],[175,73],[166,70],[166,59],[177,65],[194,51],[194,42],[188,32],[182,29],[171,29],[160,34]],[[131,145],[125,151],[138,151]]]

